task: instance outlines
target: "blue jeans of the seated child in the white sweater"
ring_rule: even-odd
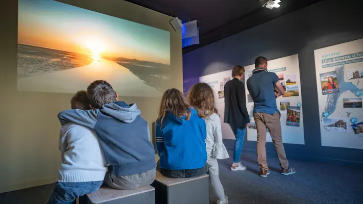
[[[56,182],[47,204],[72,204],[77,197],[81,197],[98,190],[102,183],[103,181],[80,183]]]

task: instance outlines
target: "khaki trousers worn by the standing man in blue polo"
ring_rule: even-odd
[[[281,133],[281,114],[275,112],[274,115],[267,113],[254,113],[253,117],[257,129],[257,162],[260,169],[269,170],[266,158],[266,128],[269,130],[272,142],[275,146],[276,156],[280,161],[282,169],[288,169],[288,160],[286,159],[285,149],[282,143]]]

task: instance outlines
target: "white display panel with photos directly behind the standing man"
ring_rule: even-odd
[[[255,65],[245,67],[246,81],[252,74]],[[282,141],[289,144],[304,144],[303,104],[301,103],[301,82],[299,70],[299,57],[292,55],[268,61],[268,71],[275,72],[280,83],[286,91],[283,96],[276,99],[277,107],[281,112]],[[253,119],[253,101],[246,86],[246,104],[250,114],[251,126],[247,129],[247,139],[257,141],[257,130]],[[267,141],[272,142],[270,133]]]

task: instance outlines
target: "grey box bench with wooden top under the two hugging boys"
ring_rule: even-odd
[[[134,190],[116,190],[108,186],[102,186],[96,192],[87,194],[86,203],[155,204],[155,188],[145,186]],[[81,202],[81,204],[83,203]]]

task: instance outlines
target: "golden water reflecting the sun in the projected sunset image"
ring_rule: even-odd
[[[116,62],[100,59],[78,68],[19,78],[19,91],[76,93],[86,89],[94,79],[109,82],[120,96],[158,97],[162,92],[140,80]]]

